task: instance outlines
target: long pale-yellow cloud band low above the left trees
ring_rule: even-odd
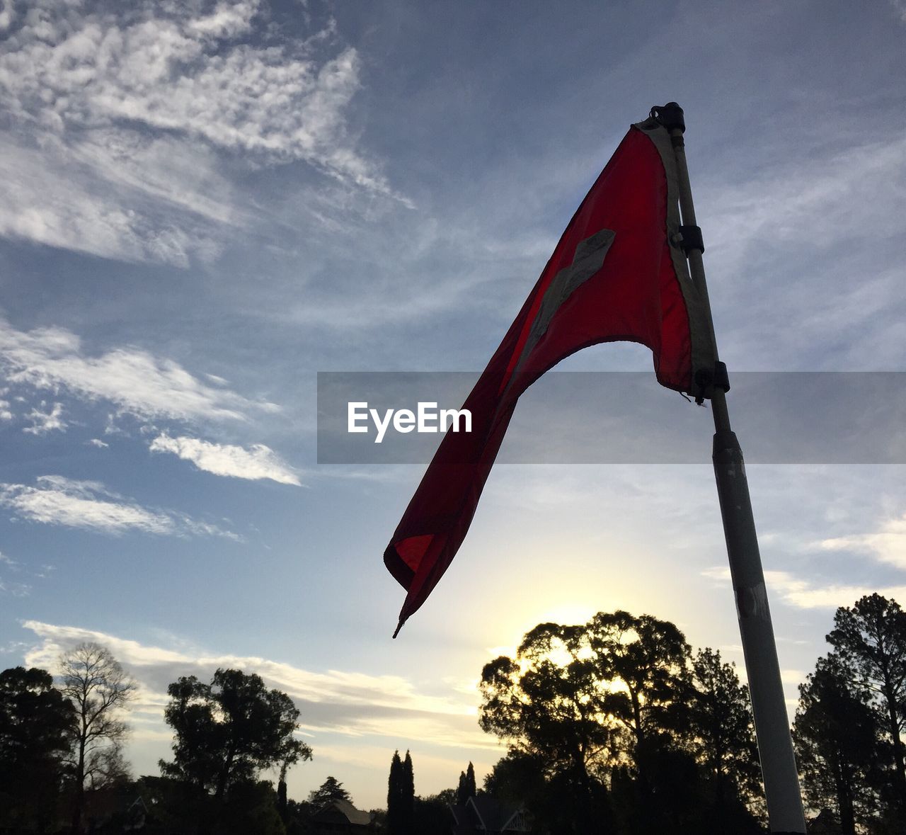
[[[167,685],[180,675],[209,680],[217,667],[257,673],[269,687],[289,694],[300,709],[304,735],[340,733],[349,737],[386,736],[399,740],[430,739],[439,745],[469,745],[496,750],[496,742],[478,730],[475,706],[465,699],[420,693],[398,675],[368,675],[342,670],[313,672],[255,655],[208,655],[36,620],[23,626],[41,639],[24,655],[27,665],[53,669],[65,650],[82,641],[107,646],[140,685],[136,712],[164,730]],[[155,732],[154,725],[149,730]],[[142,732],[144,733],[144,732]],[[397,743],[398,744],[398,743]]]

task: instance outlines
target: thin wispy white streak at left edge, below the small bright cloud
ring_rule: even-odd
[[[149,510],[107,490],[98,481],[59,475],[36,479],[37,486],[0,483],[0,505],[17,519],[94,530],[120,536],[129,531],[158,536],[222,536],[239,539],[216,525],[163,510]]]

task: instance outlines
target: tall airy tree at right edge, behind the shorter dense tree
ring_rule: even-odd
[[[906,728],[906,612],[879,594],[840,607],[827,636],[854,685],[867,689],[883,716],[891,745],[896,805],[906,816],[906,762],[901,733]]]

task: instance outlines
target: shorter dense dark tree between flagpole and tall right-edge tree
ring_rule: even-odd
[[[878,806],[869,789],[879,732],[869,698],[833,654],[799,685],[793,739],[805,796],[815,810],[833,808],[844,835],[855,835]]]

